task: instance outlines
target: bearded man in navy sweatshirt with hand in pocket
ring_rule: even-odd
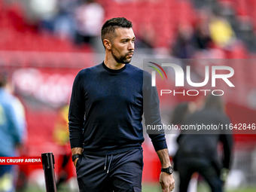
[[[104,62],[81,70],[73,84],[69,138],[80,191],[142,190],[143,111],[146,124],[161,122],[157,90],[143,82],[151,81],[150,74],[129,64],[135,41],[132,27],[123,17],[106,21]],[[148,104],[145,110],[142,104]],[[163,167],[162,190],[172,191],[165,136],[149,136]]]

